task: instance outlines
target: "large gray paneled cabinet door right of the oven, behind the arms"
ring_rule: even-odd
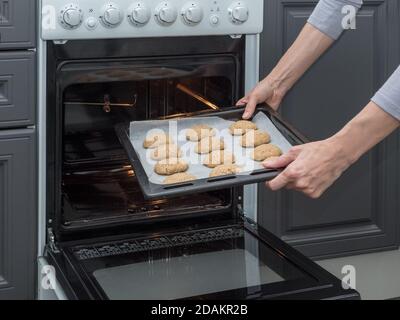
[[[291,45],[318,1],[265,1],[261,75]],[[337,132],[365,106],[400,60],[400,3],[364,1],[347,31],[285,98],[281,112],[311,140]],[[259,221],[311,257],[396,248],[399,131],[351,167],[318,200],[259,186]],[[367,138],[367,137],[366,137]]]

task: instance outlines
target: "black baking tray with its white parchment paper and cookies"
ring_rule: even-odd
[[[217,112],[190,114],[172,120],[135,121],[117,125],[117,135],[126,150],[144,197],[154,199],[195,194],[268,181],[276,177],[279,170],[265,169],[262,161],[253,160],[253,143],[257,140],[254,130],[249,130],[246,136],[232,134],[231,126],[241,120],[243,112],[244,108],[234,107]],[[278,147],[282,154],[288,152],[292,146],[306,142],[300,133],[266,105],[257,107],[251,122],[263,137],[265,133],[269,136],[269,141],[262,143]],[[188,137],[188,133],[193,132],[191,128],[196,126],[207,127],[209,130],[206,131],[207,137],[201,142],[191,141]],[[203,132],[202,130],[201,133]],[[149,137],[154,136],[162,136],[163,139],[158,140],[159,145],[149,147],[146,142]],[[244,141],[250,141],[250,145],[244,146]],[[160,152],[161,149],[163,151]],[[215,151],[210,153],[211,149]],[[221,163],[223,156],[219,156],[218,163],[211,161],[213,165],[206,166],[212,159],[211,154],[221,152],[230,155],[226,168],[213,168]],[[170,160],[160,163],[167,161],[173,166],[165,168],[159,165],[156,169],[165,153],[168,153]],[[177,178],[182,182],[175,183],[174,179],[171,180],[171,168],[180,172]]]

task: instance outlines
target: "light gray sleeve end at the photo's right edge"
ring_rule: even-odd
[[[371,100],[400,121],[400,66]]]

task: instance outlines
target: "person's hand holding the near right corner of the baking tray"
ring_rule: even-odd
[[[266,185],[273,191],[286,187],[317,199],[351,165],[350,155],[342,150],[340,143],[329,139],[295,146],[287,154],[263,163],[268,169],[286,167]]]

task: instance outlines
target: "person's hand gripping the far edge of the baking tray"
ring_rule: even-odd
[[[278,110],[282,99],[283,95],[279,94],[278,91],[273,88],[273,85],[268,78],[265,78],[259,82],[250,93],[240,99],[236,105],[246,105],[243,119],[250,119],[257,107],[257,104],[265,102],[274,110]]]

